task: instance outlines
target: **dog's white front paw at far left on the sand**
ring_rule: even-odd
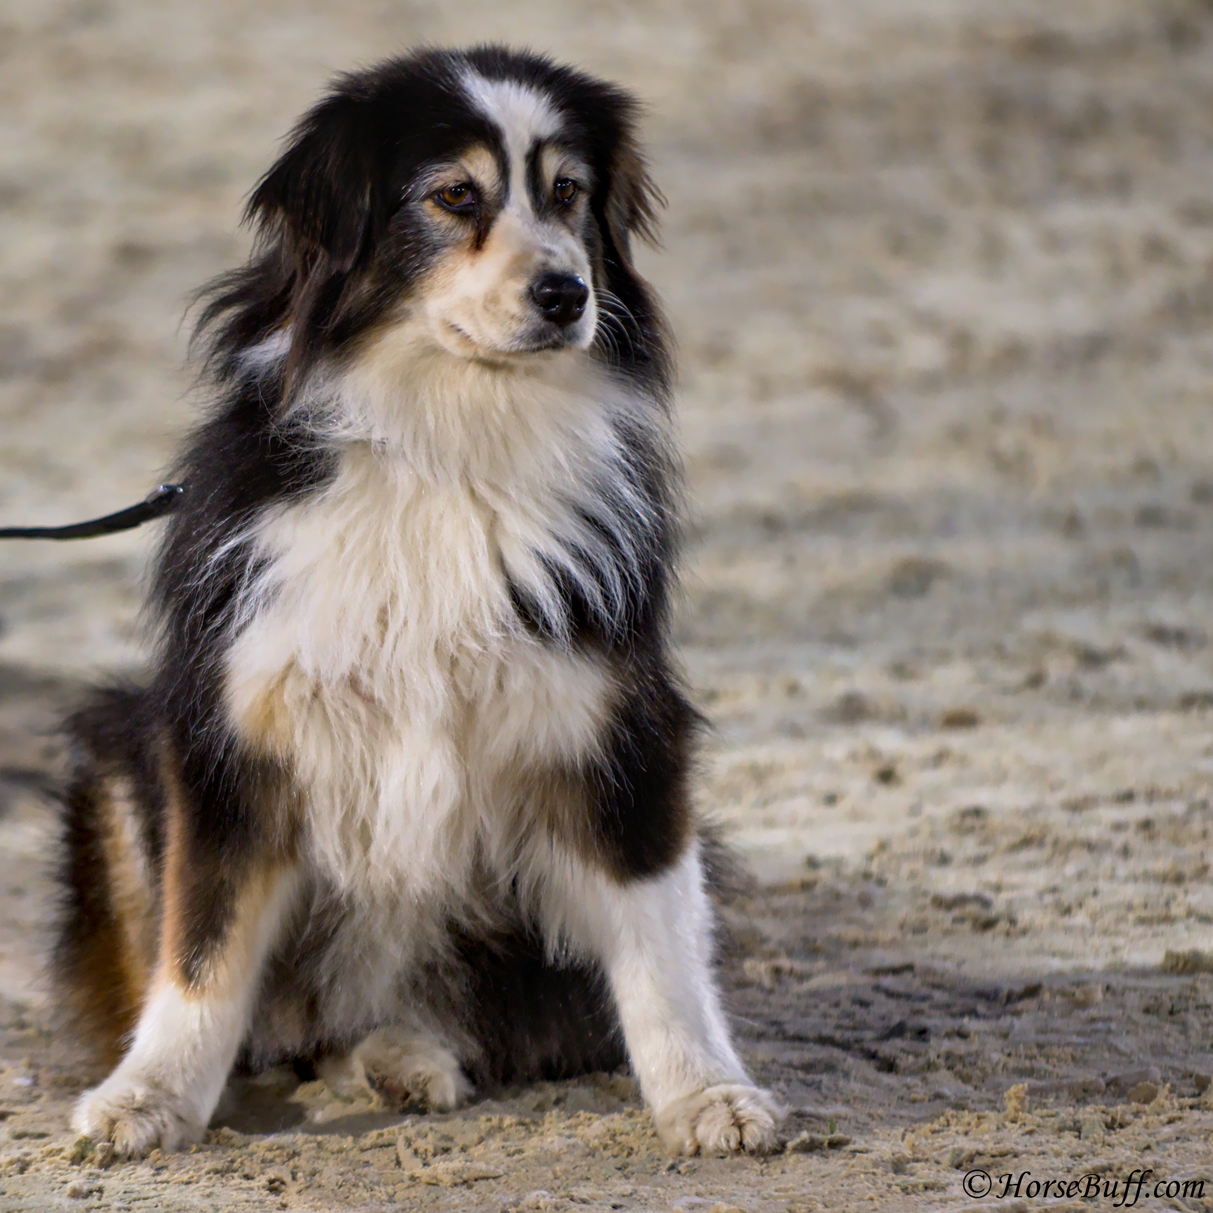
[[[72,1127],[93,1141],[112,1141],[120,1158],[180,1150],[206,1131],[180,1097],[118,1074],[80,1097]]]

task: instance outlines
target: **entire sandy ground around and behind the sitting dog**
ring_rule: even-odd
[[[0,1211],[964,1209],[985,1171],[1023,1213],[1127,1205],[1027,1184],[1134,1168],[1138,1207],[1213,1208],[1208,4],[7,0],[0,518],[155,483],[188,292],[329,72],[491,36],[651,102],[679,639],[704,803],[758,875],[724,979],[787,1151],[670,1162],[625,1075],[443,1118],[274,1072],[197,1152],[86,1155],[38,787],[56,704],[138,666],[149,537],[10,545]]]

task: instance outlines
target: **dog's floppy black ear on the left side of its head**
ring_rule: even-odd
[[[366,103],[336,92],[311,109],[286,150],[261,178],[245,221],[281,233],[303,266],[319,255],[348,273],[368,245],[375,205],[374,156]]]

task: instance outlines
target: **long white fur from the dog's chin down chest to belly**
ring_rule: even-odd
[[[238,727],[255,733],[262,705],[280,705],[279,731],[254,740],[290,762],[308,866],[352,907],[324,1010],[344,1029],[395,1008],[395,974],[439,946],[449,911],[491,916],[473,905],[478,873],[508,882],[541,861],[520,832],[517,773],[593,753],[613,705],[598,657],[523,628],[507,573],[559,637],[543,560],[609,616],[638,573],[582,516],[625,558],[654,524],[619,425],[660,411],[588,358],[514,372],[406,368],[406,352],[385,338],[304,405],[338,468],[239,540],[260,571],[227,659]]]

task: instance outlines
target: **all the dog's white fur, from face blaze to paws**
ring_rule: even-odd
[[[613,672],[571,643],[562,586],[604,631],[622,620],[665,525],[665,507],[637,488],[647,469],[633,446],[660,461],[670,435],[659,402],[586,353],[593,296],[563,349],[536,352],[537,275],[591,281],[577,212],[542,212],[526,184],[528,158],[560,115],[518,82],[469,72],[463,85],[502,132],[507,182],[489,182],[484,149],[435,172],[495,184],[491,230],[482,240],[433,193],[422,198],[445,257],[398,314],[292,386],[284,432],[330,452],[331,478],[261,513],[215,559],[220,570],[240,549],[249,570],[223,625],[226,708],[297,784],[298,869],[247,910],[203,992],[154,985],[126,1058],[80,1100],[76,1127],[123,1154],[197,1138],[240,1043],[273,1055],[292,1030],[338,1040],[374,1027],[330,1066],[335,1084],[370,1077],[455,1106],[468,1093],[457,1060],[467,1042],[452,1037],[459,1025],[431,1021],[439,1008],[409,1004],[409,979],[442,959],[452,917],[491,928],[514,896],[553,955],[600,964],[673,1149],[773,1140],[778,1109],[746,1076],[712,981],[697,849],[621,884],[562,849],[528,802],[529,778],[596,756],[627,690],[615,682],[623,662]],[[585,176],[554,144],[541,163],[552,180]],[[246,351],[247,374],[289,342],[284,331]],[[545,639],[523,626],[511,586]],[[325,949],[309,957],[319,1024],[292,1027],[291,1008],[255,997],[308,896]]]

